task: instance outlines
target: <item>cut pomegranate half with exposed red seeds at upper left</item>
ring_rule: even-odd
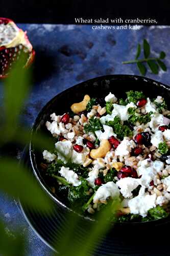
[[[35,51],[27,32],[19,29],[13,20],[0,17],[0,78],[8,76],[12,64],[20,55],[26,56],[23,67],[28,67],[34,60]]]

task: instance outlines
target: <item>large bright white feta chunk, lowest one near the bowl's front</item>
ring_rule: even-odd
[[[129,200],[128,206],[131,214],[139,214],[145,217],[149,209],[156,207],[155,201],[156,194],[150,196],[145,193],[145,188],[141,187],[139,195]]]

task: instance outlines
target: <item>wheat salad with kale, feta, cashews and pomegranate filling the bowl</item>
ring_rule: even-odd
[[[161,95],[114,91],[86,94],[67,113],[51,113],[46,130],[54,148],[40,166],[52,193],[70,208],[95,215],[119,198],[118,222],[168,217],[170,111]]]

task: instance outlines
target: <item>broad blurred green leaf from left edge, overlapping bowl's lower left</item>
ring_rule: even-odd
[[[10,158],[0,159],[0,189],[9,196],[41,211],[51,211],[52,204],[26,167]]]

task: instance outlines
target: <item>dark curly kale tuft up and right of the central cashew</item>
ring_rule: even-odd
[[[128,125],[123,125],[118,116],[113,121],[107,121],[106,125],[113,128],[113,132],[117,135],[117,138],[123,140],[125,136],[132,136],[132,131]]]

